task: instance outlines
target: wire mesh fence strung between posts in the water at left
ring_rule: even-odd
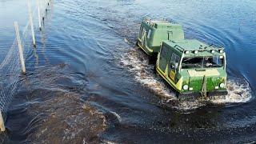
[[[33,31],[42,30],[42,22],[46,16],[46,9],[49,4],[49,0],[37,0],[37,5],[32,9],[30,7],[30,0],[28,0],[28,17],[33,15],[37,16],[37,18],[33,16],[30,17],[31,19],[29,18],[29,21],[26,23],[26,26],[22,29],[22,33],[20,34],[22,54],[24,55],[25,62],[28,54],[33,50]],[[33,23],[36,21],[39,22],[38,27],[33,26]],[[18,39],[16,37],[14,38],[12,46],[10,46],[10,50],[6,53],[6,57],[0,63],[0,110],[4,122],[6,121],[8,107],[17,90],[18,82],[20,81],[20,76],[22,74],[21,62],[22,59],[20,58]]]

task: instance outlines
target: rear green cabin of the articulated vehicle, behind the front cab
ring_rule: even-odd
[[[138,35],[138,46],[153,56],[157,55],[160,50],[162,40],[182,40],[184,32],[182,26],[169,21],[154,21],[144,19]]]

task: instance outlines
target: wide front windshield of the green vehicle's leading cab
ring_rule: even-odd
[[[210,57],[187,57],[182,60],[182,68],[209,68],[224,66],[224,56],[210,56]]]

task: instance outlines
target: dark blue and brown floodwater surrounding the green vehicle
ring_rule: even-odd
[[[255,142],[255,7],[254,0],[51,1],[42,31],[35,30],[37,47],[26,53],[27,74],[17,77],[1,141]],[[14,41],[13,22],[22,32],[27,15],[25,0],[0,0],[0,63]],[[229,94],[176,101],[135,46],[146,16],[225,46]]]

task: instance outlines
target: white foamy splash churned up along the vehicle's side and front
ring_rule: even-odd
[[[207,103],[225,104],[248,102],[251,98],[251,90],[248,82],[242,78],[230,78],[226,82],[228,94],[221,97],[211,97],[206,99],[194,99],[190,101],[177,101],[174,91],[162,82],[162,78],[154,74],[154,65],[149,64],[149,58],[143,54],[142,50],[130,49],[122,55],[121,65],[134,74],[134,78],[148,87],[154,94],[162,98],[162,104],[171,105],[177,110],[194,110]],[[174,102],[175,101],[175,102]]]

